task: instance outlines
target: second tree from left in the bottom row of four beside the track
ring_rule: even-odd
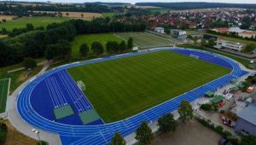
[[[142,125],[137,128],[135,138],[140,144],[149,144],[153,140],[154,136],[147,122],[143,121]]]

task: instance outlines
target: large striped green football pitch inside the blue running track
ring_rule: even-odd
[[[195,89],[230,69],[171,51],[73,67],[84,94],[106,122],[125,119]]]

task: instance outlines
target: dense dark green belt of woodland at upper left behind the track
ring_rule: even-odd
[[[32,27],[27,25],[26,30],[32,30]],[[113,32],[113,30],[114,32],[143,32],[145,29],[145,24],[140,21],[112,22],[109,18],[53,23],[45,30],[32,30],[14,38],[0,40],[0,67],[20,63],[26,57],[66,58],[71,55],[70,42],[78,34]]]

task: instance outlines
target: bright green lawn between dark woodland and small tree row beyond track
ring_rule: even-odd
[[[104,49],[108,41],[117,41],[120,43],[123,39],[116,37],[113,33],[102,33],[102,34],[85,34],[79,35],[74,38],[72,45],[72,54],[73,56],[79,56],[79,47],[81,44],[87,44],[89,47],[95,41],[98,41],[102,44]],[[90,51],[91,52],[91,51]]]

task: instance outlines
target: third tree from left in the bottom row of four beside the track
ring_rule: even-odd
[[[175,131],[177,128],[177,121],[173,119],[172,113],[167,113],[160,119],[158,119],[159,131],[166,133],[169,131]]]

